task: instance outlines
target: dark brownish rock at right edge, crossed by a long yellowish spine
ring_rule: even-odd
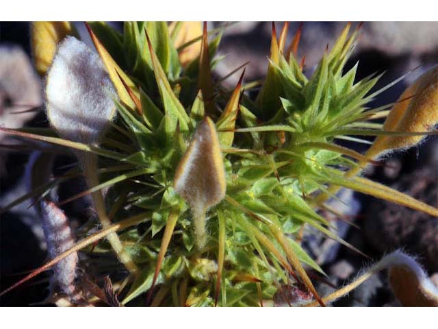
[[[436,167],[404,174],[391,187],[437,206]],[[378,199],[368,203],[365,218],[365,239],[378,252],[390,252],[401,247],[420,256],[420,263],[428,271],[438,271],[438,218]]]

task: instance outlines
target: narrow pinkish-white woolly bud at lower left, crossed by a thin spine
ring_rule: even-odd
[[[68,219],[60,208],[47,200],[41,202],[42,229],[47,243],[50,258],[62,254],[73,247],[75,239],[68,224]],[[66,256],[53,267],[53,284],[66,295],[75,293],[75,277],[78,262],[77,252]]]

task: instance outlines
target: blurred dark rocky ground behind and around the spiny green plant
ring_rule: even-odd
[[[279,32],[283,22],[275,22]],[[122,29],[122,23],[112,22]],[[209,23],[209,29],[224,22]],[[305,73],[311,75],[324,53],[332,47],[345,22],[303,22],[298,47],[298,59],[305,56]],[[76,23],[83,40],[88,40],[82,23]],[[226,76],[238,66],[246,65],[245,81],[263,78],[268,66],[271,22],[240,22],[227,27],[218,56],[225,56],[216,66],[216,79]],[[300,23],[290,23],[289,43]],[[355,27],[357,23],[353,23]],[[438,23],[436,22],[365,22],[359,45],[346,65],[349,69],[359,61],[357,78],[385,71],[376,88],[408,73],[396,84],[373,101],[370,106],[382,106],[396,101],[402,91],[419,75],[438,64]],[[238,79],[236,73],[224,80],[230,88]],[[4,127],[47,127],[42,108],[42,80],[31,64],[29,23],[0,23],[0,125]],[[29,110],[31,109],[31,110]],[[26,165],[32,160],[31,149],[21,149],[16,140],[0,132],[0,208],[28,192]],[[348,145],[364,151],[366,145]],[[62,157],[61,157],[62,158]],[[55,166],[71,163],[64,156]],[[400,151],[385,158],[381,165],[370,167],[368,177],[408,193],[433,206],[438,206],[438,138],[427,138],[420,146]],[[77,182],[64,187],[64,193],[72,195],[81,191]],[[438,219],[389,204],[372,197],[350,191],[339,194],[342,202],[333,206],[355,223],[355,226],[331,218],[337,234],[374,259],[387,252],[403,248],[418,257],[438,284]],[[67,214],[80,221],[86,216],[81,200],[66,208]],[[325,214],[330,218],[330,214]],[[23,202],[0,219],[0,290],[10,286],[46,260],[40,219],[31,202]],[[303,245],[307,252],[329,275],[329,283],[319,282],[318,289],[324,295],[333,287],[355,277],[367,264],[364,258],[325,239],[311,230],[305,232]],[[1,306],[28,306],[40,302],[47,295],[47,275],[12,291],[0,300]],[[387,289],[385,273],[363,284],[348,297],[337,302],[339,306],[397,306],[394,296]]]

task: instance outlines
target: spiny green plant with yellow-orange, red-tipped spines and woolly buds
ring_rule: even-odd
[[[68,23],[34,23],[34,56],[47,74],[53,129],[1,130],[70,147],[79,165],[3,211],[47,197],[82,171],[88,190],[60,204],[91,194],[96,216],[76,231],[79,242],[21,282],[81,250],[89,261],[78,267],[92,270],[94,278],[77,271],[77,282],[91,304],[110,304],[98,286],[111,274],[124,305],[263,306],[272,304],[275,293],[284,295],[284,284],[298,284],[324,306],[323,300],[340,293],[322,299],[313,287],[305,267],[325,273],[300,246],[303,226],[365,256],[318,212],[339,215],[324,204],[337,189],[438,215],[433,206],[357,175],[385,150],[436,134],[430,130],[438,121],[437,69],[409,97],[368,108],[403,77],[371,92],[382,74],[358,80],[358,64],[345,72],[360,25],[352,32],[346,25],[307,77],[304,59],[296,58],[300,29],[285,47],[288,23],[279,37],[272,24],[266,79],[251,99],[244,91],[257,83],[244,85],[244,73],[233,90],[211,74],[221,59],[216,51],[225,27],[207,32],[204,25],[202,35],[184,40],[186,24],[126,22],[120,33],[88,23],[98,56],[73,37]],[[46,44],[57,51],[38,50]],[[375,122],[386,116],[385,124]],[[365,155],[336,143],[369,143],[360,136],[378,136]],[[104,258],[112,254],[118,262]],[[75,294],[67,296],[73,304],[77,289]]]

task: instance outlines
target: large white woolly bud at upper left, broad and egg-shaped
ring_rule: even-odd
[[[57,49],[46,82],[51,125],[70,141],[99,143],[115,114],[110,77],[97,53],[73,36]]]

